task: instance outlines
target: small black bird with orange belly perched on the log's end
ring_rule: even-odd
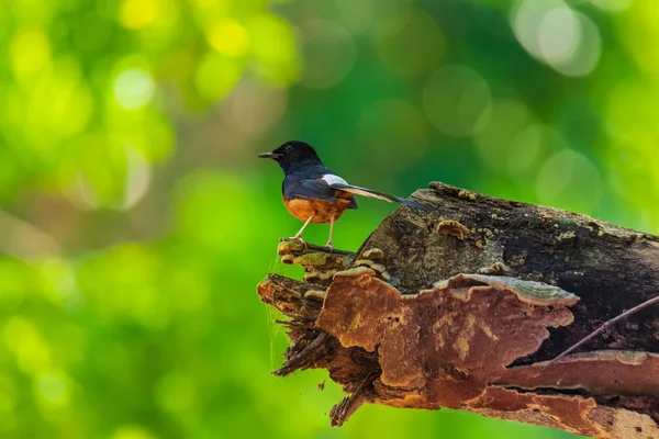
[[[302,240],[302,232],[309,223],[330,223],[330,239],[326,246],[332,248],[334,222],[346,209],[357,209],[355,194],[423,209],[421,204],[407,199],[348,184],[326,168],[316,151],[304,142],[287,142],[272,153],[265,153],[258,157],[277,161],[283,170],[283,204],[291,215],[304,223],[294,239]]]

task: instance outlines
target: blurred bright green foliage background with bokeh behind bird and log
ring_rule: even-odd
[[[300,223],[256,155],[659,227],[650,0],[0,0],[0,437],[567,438],[366,406],[255,286]],[[335,230],[356,249],[393,207]],[[323,244],[327,226],[311,226]],[[317,384],[327,381],[325,390]]]

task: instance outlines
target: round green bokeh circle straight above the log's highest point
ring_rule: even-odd
[[[473,69],[446,66],[428,78],[423,106],[437,130],[456,137],[471,136],[490,117],[490,88]]]

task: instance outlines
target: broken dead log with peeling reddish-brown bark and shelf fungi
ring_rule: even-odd
[[[659,438],[659,238],[556,209],[432,183],[356,252],[283,239],[304,281],[269,274],[261,300],[290,317],[276,374],[325,368],[361,404],[438,409],[602,438]]]

